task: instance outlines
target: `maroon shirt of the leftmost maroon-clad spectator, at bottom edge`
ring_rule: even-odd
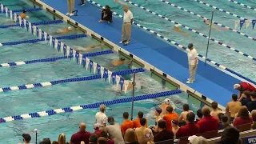
[[[80,144],[82,141],[85,142],[85,144],[89,144],[89,138],[90,138],[90,132],[84,131],[73,134],[70,141],[74,144]]]

